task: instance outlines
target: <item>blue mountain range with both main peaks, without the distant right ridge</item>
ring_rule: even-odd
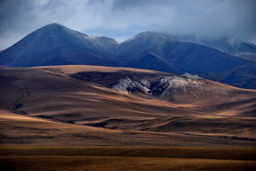
[[[59,24],[44,26],[0,53],[0,65],[31,67],[86,64],[150,69],[256,89],[256,63],[214,48],[143,32],[122,43]]]

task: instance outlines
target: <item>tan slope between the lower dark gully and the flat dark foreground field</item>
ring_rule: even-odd
[[[6,110],[0,111],[0,122],[2,147],[19,144],[19,146],[128,145],[254,148],[256,145],[255,141],[96,128],[13,114]]]

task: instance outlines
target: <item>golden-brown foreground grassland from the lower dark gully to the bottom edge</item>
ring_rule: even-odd
[[[111,130],[8,111],[2,111],[0,121],[4,138],[12,138],[0,147],[3,170],[228,171],[254,170],[256,167],[256,143],[251,141]]]

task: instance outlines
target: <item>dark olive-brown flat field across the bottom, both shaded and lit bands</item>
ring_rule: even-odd
[[[2,147],[4,170],[255,170],[256,149],[205,147]]]

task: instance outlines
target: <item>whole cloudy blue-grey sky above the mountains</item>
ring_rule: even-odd
[[[158,31],[256,44],[256,0],[0,0],[0,50],[51,23],[119,42]]]

